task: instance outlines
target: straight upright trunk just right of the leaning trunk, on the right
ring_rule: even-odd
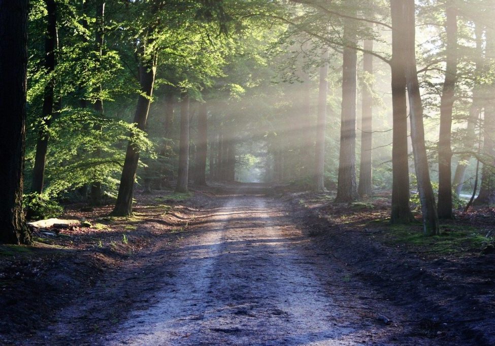
[[[447,65],[440,98],[440,133],[438,142],[438,217],[452,218],[452,108],[457,81],[457,10],[446,10]]]

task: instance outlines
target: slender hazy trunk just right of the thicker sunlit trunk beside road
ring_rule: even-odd
[[[373,51],[373,40],[365,40],[364,49]],[[362,112],[361,112],[361,160],[359,163],[359,186],[357,192],[360,196],[371,196],[373,193],[372,180],[372,117],[373,117],[373,55],[363,53],[363,71],[365,80],[361,85]],[[367,83],[368,82],[368,83]]]

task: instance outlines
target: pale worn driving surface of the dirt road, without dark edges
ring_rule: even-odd
[[[318,253],[281,202],[233,196],[212,214],[164,263],[176,271],[163,278],[159,302],[131,312],[102,344],[354,344],[390,337],[375,321],[377,307],[356,298],[373,293]],[[408,341],[418,344],[401,343]]]

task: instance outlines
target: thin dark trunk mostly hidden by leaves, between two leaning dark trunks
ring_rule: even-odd
[[[96,21],[97,27],[95,32],[95,40],[96,40],[96,50],[100,54],[100,62],[103,57],[103,44],[104,44],[104,34],[105,34],[105,1],[101,1],[97,7],[96,13]],[[100,92],[103,91],[102,86],[100,85]],[[98,97],[96,102],[94,102],[94,110],[96,113],[100,114],[100,116],[104,117],[104,109],[103,109],[103,99]],[[102,131],[102,126],[96,124],[95,130]],[[101,149],[97,148],[94,153],[94,157],[100,157],[102,155]],[[102,204],[102,181],[101,178],[95,179],[91,184],[91,204],[92,205],[101,205]]]

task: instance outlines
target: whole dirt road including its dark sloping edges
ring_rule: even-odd
[[[200,226],[160,240],[25,344],[440,343],[314,244],[283,202],[217,199]]]

